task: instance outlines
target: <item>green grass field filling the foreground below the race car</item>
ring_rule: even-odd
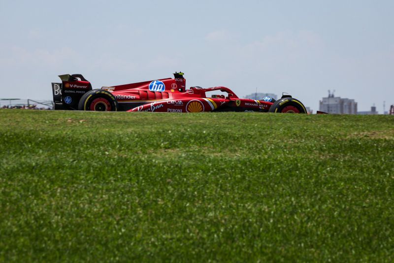
[[[394,117],[0,110],[0,262],[394,261]]]

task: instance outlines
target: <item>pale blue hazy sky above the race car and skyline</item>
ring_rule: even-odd
[[[394,1],[0,0],[0,97],[50,99],[57,75],[93,87],[171,77],[240,97],[394,104]],[[386,110],[388,106],[386,106]]]

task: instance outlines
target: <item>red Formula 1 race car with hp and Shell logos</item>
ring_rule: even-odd
[[[227,87],[186,89],[183,73],[174,78],[150,80],[92,89],[82,75],[60,75],[62,83],[52,83],[55,110],[128,112],[272,112],[306,113],[304,105],[284,95],[275,101],[240,99]],[[216,93],[208,97],[207,93]],[[218,94],[221,93],[221,94]]]

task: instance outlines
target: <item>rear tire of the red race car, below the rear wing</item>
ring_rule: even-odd
[[[118,102],[111,92],[103,89],[94,89],[86,92],[79,100],[79,111],[116,112]]]

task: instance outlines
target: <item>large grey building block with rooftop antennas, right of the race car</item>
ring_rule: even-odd
[[[328,93],[328,97],[320,101],[319,111],[331,114],[357,114],[357,102],[353,99],[334,97]]]

